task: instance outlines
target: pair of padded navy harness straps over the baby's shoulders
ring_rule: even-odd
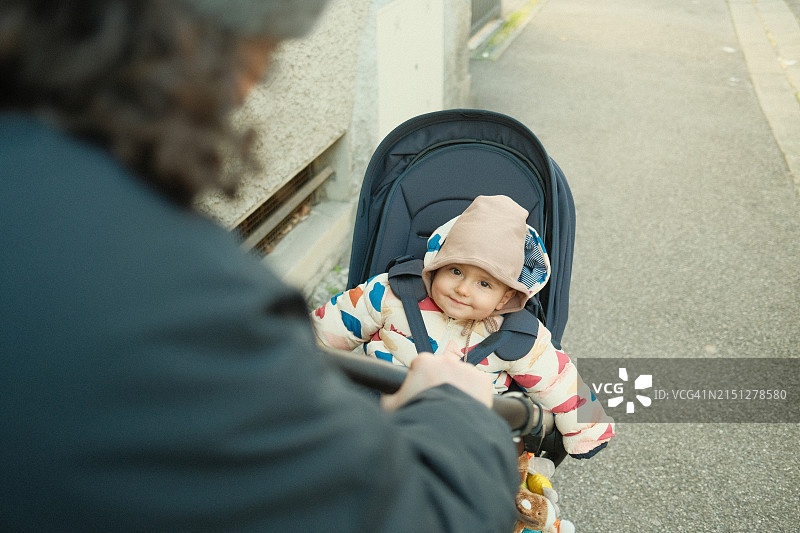
[[[389,268],[389,286],[403,303],[414,346],[417,352],[433,352],[428,330],[422,319],[419,302],[428,296],[422,281],[422,260],[411,256],[397,258]],[[503,323],[467,354],[466,361],[477,365],[494,352],[504,361],[525,357],[536,342],[539,321],[529,311],[522,309],[503,316]]]

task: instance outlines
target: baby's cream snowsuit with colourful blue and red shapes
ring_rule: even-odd
[[[456,219],[443,225],[429,238],[425,265],[435,259]],[[536,281],[529,290],[532,296],[547,282],[550,265],[539,235],[528,226],[526,257],[536,257],[528,269]],[[533,248],[533,254],[530,254]],[[464,358],[485,339],[493,320],[502,324],[502,316],[473,322],[447,316],[428,296],[419,304],[422,318],[435,355]],[[408,366],[417,356],[403,304],[392,292],[388,274],[379,274],[365,283],[338,294],[314,311],[312,323],[320,341],[343,350],[363,349],[368,356]],[[493,326],[488,326],[493,327]],[[478,368],[488,374],[495,392],[508,390],[514,380],[536,402],[552,411],[556,427],[564,437],[568,453],[582,455],[614,436],[614,422],[600,402],[581,380],[570,358],[556,350],[550,332],[539,323],[538,336],[528,354],[515,361],[505,361],[490,354]],[[581,409],[580,421],[577,409]]]

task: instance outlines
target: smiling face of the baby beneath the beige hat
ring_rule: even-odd
[[[499,311],[516,291],[482,268],[451,264],[438,269],[431,282],[431,298],[448,316],[483,320]]]

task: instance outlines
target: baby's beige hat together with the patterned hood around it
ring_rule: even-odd
[[[433,272],[453,263],[482,268],[517,291],[494,314],[525,307],[550,276],[550,261],[528,212],[508,196],[478,196],[459,216],[428,238],[422,280],[431,290]]]

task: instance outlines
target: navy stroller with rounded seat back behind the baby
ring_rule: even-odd
[[[475,197],[499,194],[529,211],[528,224],[539,232],[550,254],[548,284],[518,313],[529,314],[528,320],[530,316],[541,320],[550,330],[553,344],[560,348],[567,323],[575,236],[572,194],[561,169],[536,136],[517,120],[499,113],[467,109],[428,113],[406,121],[386,136],[364,177],[347,288],[390,271],[396,263],[422,259],[427,239],[437,227],[461,214]],[[416,308],[415,300],[424,295],[417,294],[408,305],[408,295],[398,296],[412,322],[409,306]],[[422,337],[414,335],[415,339]],[[526,342],[512,337],[508,337],[509,346]],[[482,344],[491,344],[491,339]],[[496,343],[484,351],[488,355],[495,348]],[[422,351],[419,345],[417,349]],[[527,350],[520,356],[524,353]],[[544,437],[527,435],[523,440],[527,451],[555,464],[566,455],[557,430]]]

